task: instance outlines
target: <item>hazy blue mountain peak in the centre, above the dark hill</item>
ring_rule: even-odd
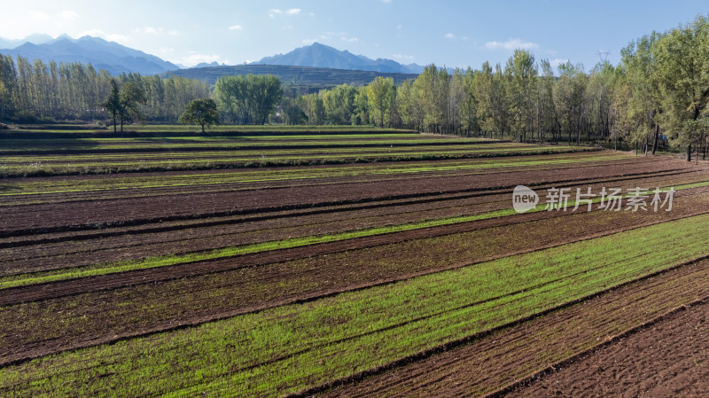
[[[416,64],[401,65],[392,59],[370,59],[363,55],[354,55],[347,50],[340,51],[318,42],[299,47],[286,54],[264,57],[252,64],[328,67],[399,74],[418,74],[424,69],[423,66]]]

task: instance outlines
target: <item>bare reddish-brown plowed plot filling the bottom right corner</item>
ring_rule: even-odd
[[[581,355],[510,397],[699,397],[709,392],[709,302]]]

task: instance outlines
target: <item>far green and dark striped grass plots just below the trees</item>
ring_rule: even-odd
[[[136,137],[92,137],[85,130],[65,129],[0,134],[4,154],[0,177],[451,160],[598,149],[361,127],[225,126],[211,136],[190,134],[175,126],[139,130],[142,133]]]

